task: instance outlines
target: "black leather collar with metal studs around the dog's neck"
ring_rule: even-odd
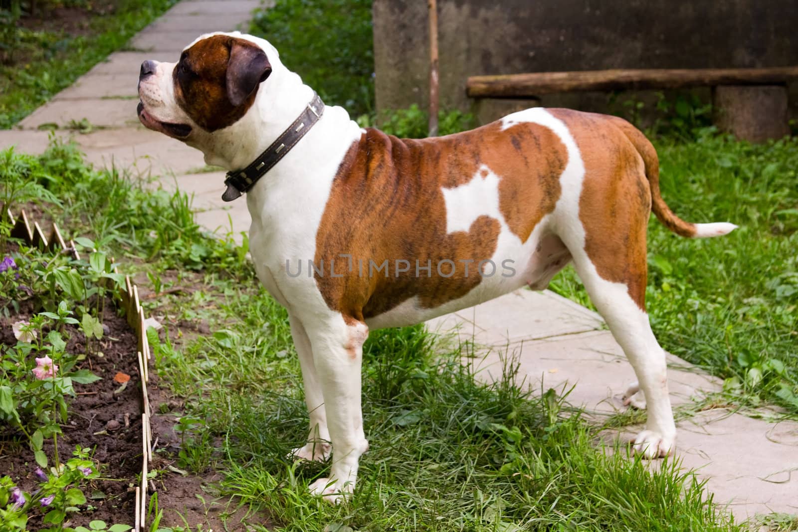
[[[322,114],[324,114],[324,102],[314,91],[313,99],[306,105],[302,114],[257,159],[243,170],[227,172],[227,179],[224,179],[227,190],[224,191],[222,199],[232,201],[254,187],[255,183],[258,183],[258,179],[279,163],[279,160],[286,156],[291,148],[294,148],[306,132],[318,122]]]

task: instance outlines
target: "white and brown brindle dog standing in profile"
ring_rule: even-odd
[[[674,447],[665,353],[644,304],[646,225],[654,211],[685,237],[735,226],[674,215],[654,148],[625,120],[530,108],[424,140],[360,128],[341,107],[313,108],[306,124],[298,117],[312,119],[314,91],[267,41],[240,33],[203,35],[177,63],[145,61],[139,96],[145,126],[198,148],[228,175],[263,167],[267,147],[282,157],[263,179],[243,175],[244,190],[255,270],[288,309],[302,366],[310,435],[294,454],[333,453],[314,494],[349,495],[369,447],[361,416],[369,329],[524,285],[543,290],[570,261],[645,394],[648,421],[634,450],[655,458]],[[275,143],[289,134],[287,147]]]

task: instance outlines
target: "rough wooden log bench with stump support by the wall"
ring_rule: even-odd
[[[789,133],[787,82],[798,66],[763,69],[615,69],[472,76],[473,98],[537,98],[572,91],[712,87],[716,124],[753,142]]]

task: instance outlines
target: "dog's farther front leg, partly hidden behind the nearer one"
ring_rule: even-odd
[[[291,451],[291,456],[299,459],[322,462],[330,455],[330,432],[327,430],[327,416],[324,408],[322,387],[313,362],[310,338],[297,317],[290,315],[291,337],[302,368],[302,381],[305,387],[305,403],[310,414],[310,433],[302,447]]]

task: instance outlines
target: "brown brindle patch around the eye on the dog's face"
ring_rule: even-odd
[[[227,128],[244,116],[255,102],[257,90],[240,105],[227,93],[227,65],[233,46],[263,51],[258,45],[229,35],[197,41],[184,51],[175,66],[175,99],[188,116],[208,132]]]

